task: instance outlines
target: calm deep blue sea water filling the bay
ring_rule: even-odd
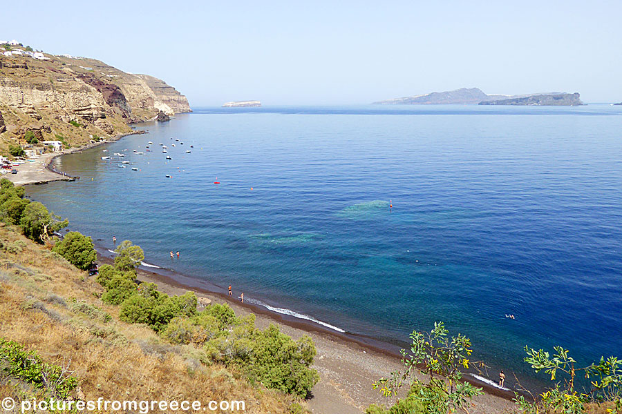
[[[138,129],[27,194],[348,333],[404,345],[442,320],[519,378],[527,344],[622,356],[622,107],[199,108]]]

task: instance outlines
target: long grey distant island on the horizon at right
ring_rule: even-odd
[[[460,88],[445,92],[431,92],[426,95],[388,99],[374,103],[379,105],[583,105],[581,99],[578,98],[578,93],[548,92],[529,95],[487,95],[479,88]]]

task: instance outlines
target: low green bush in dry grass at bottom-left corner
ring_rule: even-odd
[[[17,342],[0,338],[0,361],[2,371],[44,389],[50,397],[66,399],[77,386],[66,368],[43,362],[35,351],[26,351]]]

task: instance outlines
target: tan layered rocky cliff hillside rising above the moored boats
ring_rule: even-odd
[[[148,75],[129,74],[95,59],[48,54],[35,59],[3,51],[0,46],[1,155],[9,146],[26,146],[28,131],[79,146],[129,133],[128,124],[153,119],[160,111],[190,112],[185,96]]]

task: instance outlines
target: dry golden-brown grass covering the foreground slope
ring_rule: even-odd
[[[0,239],[5,246],[26,243],[21,253],[0,253],[0,336],[47,362],[70,360],[86,400],[244,400],[248,413],[287,412],[287,395],[250,386],[223,366],[206,366],[200,351],[167,344],[147,326],[120,322],[117,308],[98,298],[102,288],[93,279],[15,229],[0,228]],[[72,299],[86,305],[72,306]],[[85,306],[112,319],[105,322]],[[3,383],[0,374],[0,395],[23,396]]]

